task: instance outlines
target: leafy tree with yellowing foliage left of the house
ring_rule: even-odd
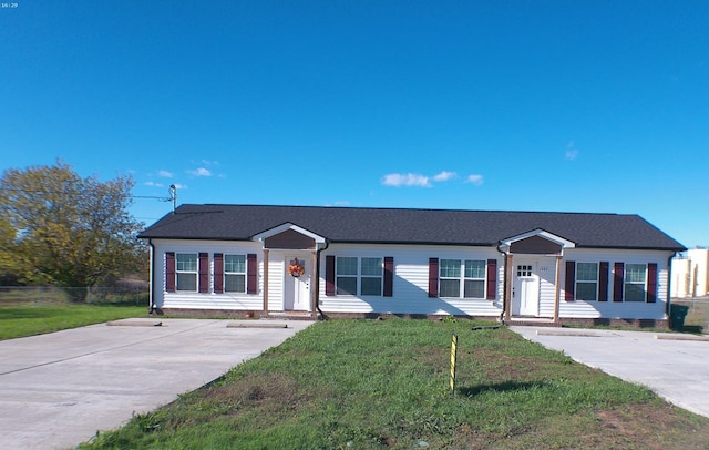
[[[133,185],[131,176],[81,178],[61,161],[7,170],[0,180],[0,268],[27,284],[64,287],[138,270],[143,224],[127,212]],[[79,290],[76,299],[85,299]]]

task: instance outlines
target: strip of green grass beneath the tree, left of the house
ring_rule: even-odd
[[[85,325],[146,315],[135,300],[73,304],[61,293],[2,293],[0,295],[0,340],[42,335]]]

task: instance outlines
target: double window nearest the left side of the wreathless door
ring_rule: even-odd
[[[441,259],[439,294],[441,297],[484,298],[485,262]]]

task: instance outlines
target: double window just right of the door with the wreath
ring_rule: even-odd
[[[338,256],[337,295],[382,295],[382,258]]]

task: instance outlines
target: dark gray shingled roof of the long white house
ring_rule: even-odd
[[[142,238],[247,241],[285,223],[332,243],[496,246],[544,229],[577,247],[685,250],[638,215],[259,205],[182,205]]]

